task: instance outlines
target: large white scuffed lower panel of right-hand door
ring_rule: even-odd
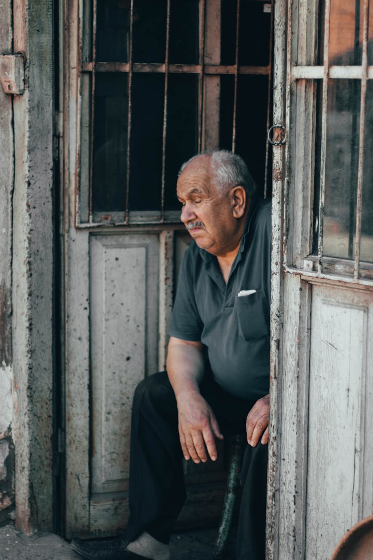
[[[306,558],[329,558],[371,515],[373,293],[315,286],[312,293]],[[365,510],[363,511],[363,504]]]

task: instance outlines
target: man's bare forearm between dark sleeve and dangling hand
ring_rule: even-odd
[[[176,399],[182,393],[199,391],[205,368],[202,344],[171,337],[166,367]]]

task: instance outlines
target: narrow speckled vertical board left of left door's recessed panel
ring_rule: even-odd
[[[89,531],[89,251],[71,228],[65,245],[66,531]]]

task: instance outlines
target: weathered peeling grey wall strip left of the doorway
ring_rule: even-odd
[[[25,94],[0,92],[0,523],[16,504],[30,534],[53,522],[52,1],[0,18],[0,53],[26,57]]]

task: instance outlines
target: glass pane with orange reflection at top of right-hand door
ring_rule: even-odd
[[[331,65],[361,64],[363,4],[363,0],[330,0]],[[373,5],[373,2],[371,4]],[[370,11],[373,11],[372,7]]]

